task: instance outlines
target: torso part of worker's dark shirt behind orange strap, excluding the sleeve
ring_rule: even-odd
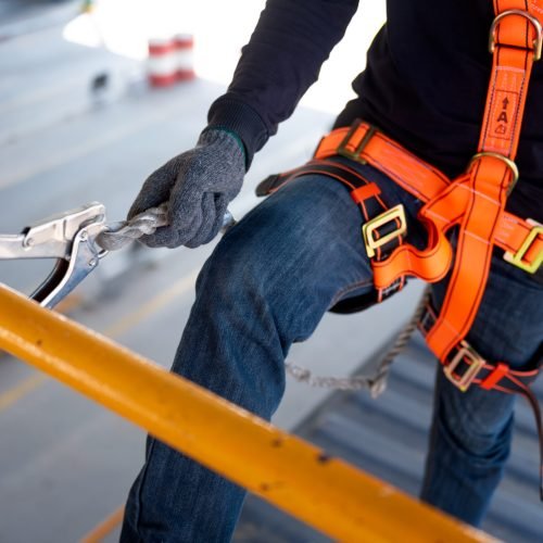
[[[361,7],[364,9],[364,7]],[[457,175],[476,153],[492,55],[490,0],[388,0],[361,99],[342,115],[379,125],[419,156]],[[534,64],[508,209],[543,222],[543,61]]]

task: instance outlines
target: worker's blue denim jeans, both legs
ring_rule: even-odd
[[[356,167],[389,206],[404,204],[408,241],[424,245],[420,201],[370,166]],[[338,300],[372,288],[361,222],[345,188],[317,175],[256,206],[205,263],[173,371],[269,419],[292,342],[307,339]],[[438,303],[443,291],[435,286]],[[543,288],[496,256],[469,341],[483,356],[521,367],[540,348],[542,321]],[[481,521],[508,456],[513,403],[478,388],[462,393],[439,371],[425,501]],[[229,541],[243,498],[243,489],[150,438],[121,540]]]

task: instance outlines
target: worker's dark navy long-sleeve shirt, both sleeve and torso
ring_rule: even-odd
[[[210,125],[236,131],[251,160],[318,78],[357,4],[268,0]],[[388,0],[387,24],[353,81],[357,98],[336,126],[362,117],[450,176],[465,171],[484,112],[493,16],[491,0]],[[543,61],[534,64],[516,162],[520,181],[507,207],[543,222]]]

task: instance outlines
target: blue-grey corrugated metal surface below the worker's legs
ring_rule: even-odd
[[[417,495],[430,426],[435,364],[415,337],[399,356],[387,392],[371,400],[366,391],[339,392],[296,430],[301,437]],[[534,387],[543,399],[543,381]],[[519,399],[512,457],[484,530],[516,543],[543,541],[543,503],[539,501],[539,445],[533,414]],[[250,496],[236,542],[320,542],[326,538]]]

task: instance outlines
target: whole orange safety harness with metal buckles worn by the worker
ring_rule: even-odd
[[[484,359],[465,340],[487,285],[494,245],[515,266],[541,275],[543,226],[505,211],[518,179],[514,162],[532,64],[541,59],[543,0],[494,0],[490,30],[493,65],[477,154],[467,172],[451,180],[402,146],[357,121],[324,137],[314,160],[300,168],[265,179],[258,194],[311,173],[325,174],[345,185],[364,216],[363,238],[371,258],[375,293],[364,305],[380,302],[401,290],[406,276],[428,282],[451,278],[441,311],[428,307],[419,328],[449,380],[462,391],[471,384],[485,390],[520,393],[528,399],[540,434],[540,491],[543,500],[543,433],[538,400],[529,383],[539,368],[516,371],[504,362]],[[428,231],[428,247],[419,250],[403,241],[403,205],[388,209],[376,184],[348,165],[327,159],[341,155],[380,169],[407,192],[425,202],[418,218]],[[456,251],[446,233],[457,228]],[[359,300],[358,300],[359,301]],[[336,311],[355,310],[353,301]],[[356,310],[359,310],[359,304]]]

